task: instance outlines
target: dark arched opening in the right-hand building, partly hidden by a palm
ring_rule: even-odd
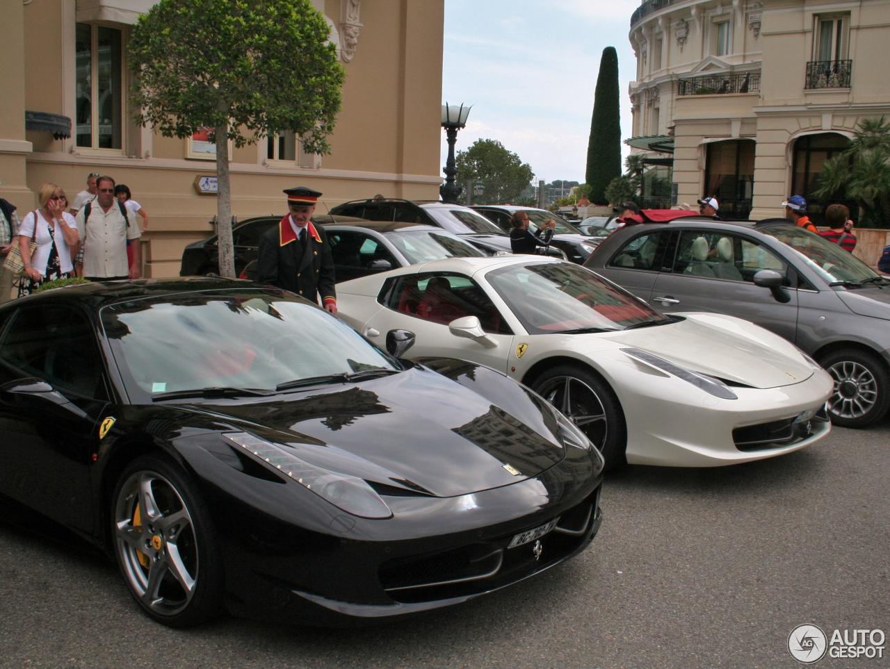
[[[794,141],[789,195],[802,195],[806,198],[807,214],[816,225],[825,223],[825,207],[835,202],[849,207],[854,221],[858,216],[859,208],[854,201],[822,200],[813,195],[813,192],[819,189],[819,175],[825,163],[849,147],[850,140],[839,133],[808,134]]]

